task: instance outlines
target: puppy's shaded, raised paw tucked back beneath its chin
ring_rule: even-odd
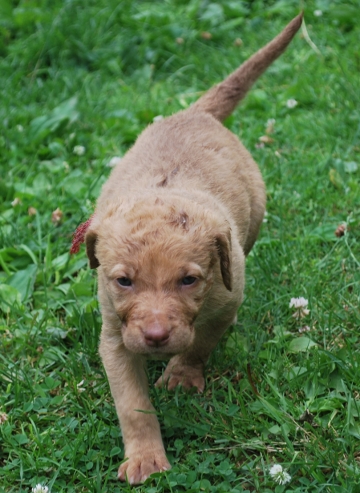
[[[181,385],[187,390],[197,389],[198,392],[203,392],[205,388],[205,378],[202,367],[193,367],[187,365],[166,367],[164,374],[156,382],[155,387],[167,387],[173,390],[178,385]]]

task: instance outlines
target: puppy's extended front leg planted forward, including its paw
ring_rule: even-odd
[[[145,359],[129,352],[106,327],[102,329],[100,355],[115,401],[127,458],[119,468],[118,478],[130,484],[142,483],[153,472],[170,469],[159,422],[149,400]]]

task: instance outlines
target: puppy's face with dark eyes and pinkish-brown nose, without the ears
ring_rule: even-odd
[[[185,351],[213,282],[211,259],[200,265],[174,249],[145,250],[145,255],[132,252],[119,259],[106,272],[107,293],[122,321],[124,344],[142,354]]]

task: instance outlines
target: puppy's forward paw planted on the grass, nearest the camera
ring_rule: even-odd
[[[170,469],[165,454],[155,451],[132,454],[126,462],[121,464],[118,471],[120,481],[128,481],[131,485],[143,483],[150,474]]]

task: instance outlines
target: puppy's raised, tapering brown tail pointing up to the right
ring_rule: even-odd
[[[244,98],[253,83],[287,48],[301,26],[303,13],[295,17],[270,43],[257,51],[223,82],[206,92],[193,105],[194,110],[225,120]]]

